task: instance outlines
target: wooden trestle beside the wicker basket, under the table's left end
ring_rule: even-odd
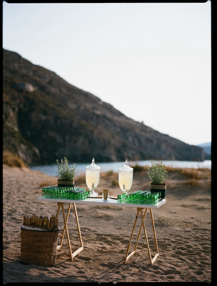
[[[71,209],[71,203],[69,203],[69,207],[68,207],[68,211],[67,211],[67,215],[65,217],[65,212],[64,212],[64,205],[65,203],[57,203],[58,208],[57,208],[57,213],[56,213],[56,218],[58,218],[59,215],[59,211],[60,211],[60,207],[62,208],[62,215],[63,215],[63,220],[64,220],[64,228],[63,228],[63,233],[60,234],[61,237],[61,242],[60,245],[57,246],[57,249],[60,249],[63,243],[63,238],[65,236],[65,232],[66,232],[66,236],[67,236],[67,241],[68,241],[68,248],[69,248],[69,254],[70,254],[70,259],[71,261],[73,261],[73,257],[75,257],[75,255],[77,255],[79,252],[81,252],[83,250],[83,242],[81,239],[81,232],[80,232],[80,226],[79,226],[79,221],[78,221],[78,217],[77,217],[77,210],[76,210],[76,205],[73,204],[74,207],[74,213],[75,213],[75,219],[76,219],[76,223],[77,223],[77,230],[78,230],[78,234],[79,234],[79,239],[80,239],[80,245],[81,247],[79,249],[77,249],[75,252],[72,253],[71,250],[71,243],[70,243],[70,239],[69,239],[69,234],[68,234],[68,227],[67,227],[67,221],[68,221],[68,217],[69,217],[69,213],[70,213],[70,209]]]

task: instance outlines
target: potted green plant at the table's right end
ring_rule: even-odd
[[[148,177],[151,180],[151,192],[159,191],[161,193],[161,199],[165,198],[166,194],[166,183],[165,180],[168,178],[168,172],[165,165],[153,163],[151,161],[151,168],[148,169]]]

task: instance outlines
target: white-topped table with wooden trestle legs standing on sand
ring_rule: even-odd
[[[113,198],[108,198],[108,200],[103,200],[102,198],[86,198],[84,200],[69,200],[69,199],[39,197],[39,198],[37,198],[37,201],[57,202],[58,208],[57,208],[56,218],[58,218],[60,207],[61,207],[63,220],[64,220],[64,228],[63,228],[63,233],[61,234],[61,236],[62,236],[61,237],[61,242],[60,242],[60,245],[57,246],[57,249],[61,248],[62,242],[63,242],[63,238],[64,238],[64,234],[66,233],[71,261],[73,261],[73,257],[74,256],[76,256],[79,252],[81,252],[83,250],[83,242],[82,242],[82,238],[81,238],[81,232],[80,232],[80,226],[79,226],[79,221],[78,221],[78,216],[77,216],[76,204],[93,204],[93,205],[104,205],[104,206],[136,207],[137,208],[137,214],[136,214],[136,218],[135,218],[135,221],[134,221],[134,226],[133,226],[133,229],[132,229],[131,237],[130,237],[130,240],[129,240],[129,243],[128,243],[127,253],[126,253],[126,256],[125,256],[125,259],[124,259],[124,263],[126,263],[127,260],[132,255],[134,255],[134,253],[136,252],[137,245],[138,245],[138,242],[139,242],[139,239],[140,239],[140,234],[141,234],[142,229],[143,229],[144,234],[145,234],[146,245],[147,245],[148,255],[149,255],[149,259],[150,259],[150,264],[151,265],[153,265],[153,263],[155,262],[157,256],[159,255],[152,209],[158,209],[163,204],[165,204],[166,203],[165,199],[163,199],[162,201],[160,201],[159,203],[157,203],[155,205],[151,205],[151,204],[147,204],[147,205],[145,205],[145,204],[123,204],[123,203],[118,203],[117,199],[113,199]],[[68,203],[69,206],[68,206],[67,215],[65,216],[64,204],[66,204],[66,203]],[[72,253],[72,250],[71,250],[71,243],[70,243],[70,237],[69,237],[68,226],[67,226],[68,217],[69,217],[69,213],[70,213],[70,209],[71,209],[71,204],[73,204],[73,207],[74,207],[74,214],[75,214],[75,219],[76,219],[76,223],[77,223],[77,230],[78,230],[79,239],[80,239],[80,247],[76,251],[74,251],[73,253]],[[144,211],[144,214],[143,214],[143,210],[144,209],[145,209],[145,211]],[[147,238],[147,234],[146,234],[146,228],[145,228],[145,224],[144,224],[144,220],[145,220],[146,213],[147,213],[148,209],[150,210],[150,214],[151,214],[153,233],[154,233],[154,239],[155,239],[155,246],[156,246],[156,254],[155,254],[155,256],[153,258],[151,257],[151,252],[150,252],[150,248],[149,248],[149,242],[148,242],[148,238]],[[134,230],[135,230],[135,227],[136,227],[137,219],[139,217],[139,213],[141,215],[142,223],[141,223],[141,226],[140,226],[140,230],[139,230],[137,239],[133,239]],[[130,246],[131,246],[131,242],[136,242],[136,245],[134,247],[134,251],[132,251],[128,255],[129,250],[130,250]]]

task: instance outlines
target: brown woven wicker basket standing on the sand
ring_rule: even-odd
[[[25,264],[53,265],[57,256],[58,229],[26,230],[21,227],[21,261]]]

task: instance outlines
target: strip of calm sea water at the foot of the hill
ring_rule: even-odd
[[[122,162],[103,162],[103,163],[97,163],[100,167],[100,172],[108,172],[113,171],[115,173],[118,173],[119,168],[123,167],[125,161]],[[160,163],[160,160],[153,160],[153,162]],[[73,162],[74,163],[74,162]],[[128,165],[133,167],[134,165],[140,165],[140,166],[151,166],[150,160],[145,161],[129,161]],[[208,168],[211,169],[211,160],[204,160],[203,162],[197,162],[197,161],[166,161],[162,160],[162,164],[166,167],[174,167],[174,168]],[[88,163],[76,163],[76,175],[85,175],[86,173],[86,166],[90,165],[90,162]],[[36,170],[42,173],[45,173],[46,175],[55,176],[57,177],[57,164],[51,164],[51,165],[30,165],[31,170]]]

